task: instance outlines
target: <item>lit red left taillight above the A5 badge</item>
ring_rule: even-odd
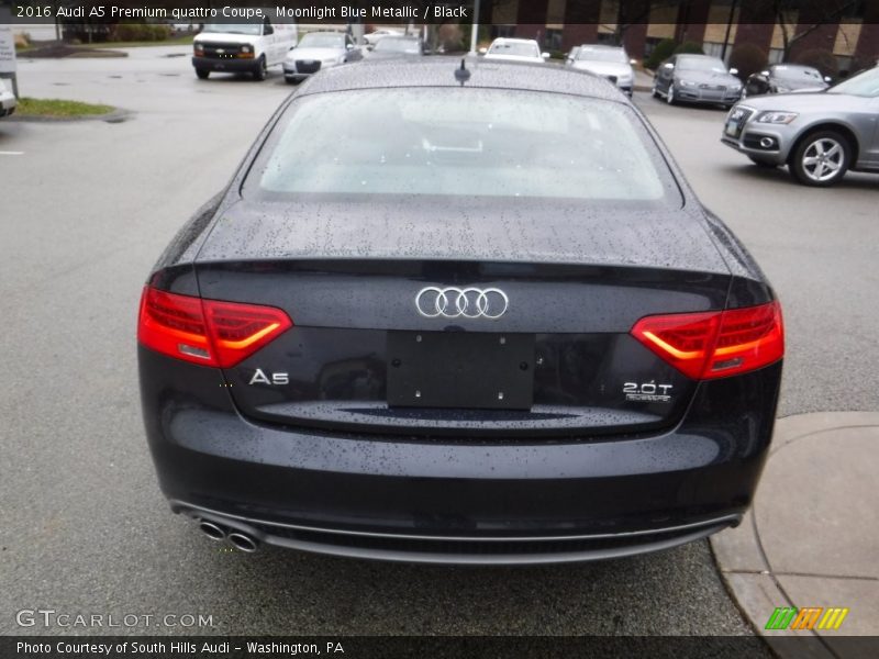
[[[231,368],[292,325],[274,306],[202,300],[147,286],[141,298],[137,340],[170,357]]]

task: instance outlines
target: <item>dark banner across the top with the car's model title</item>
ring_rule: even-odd
[[[477,15],[478,13],[478,15]],[[0,23],[879,23],[879,0],[0,0]]]

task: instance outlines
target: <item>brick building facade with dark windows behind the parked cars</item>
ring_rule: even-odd
[[[726,58],[750,43],[770,63],[828,51],[841,70],[879,59],[879,0],[483,0],[480,22],[550,51],[622,43],[639,59],[664,38]]]

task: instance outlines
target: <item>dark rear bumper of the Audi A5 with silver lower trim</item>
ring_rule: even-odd
[[[560,562],[670,547],[736,524],[766,459],[776,364],[700,386],[667,432],[528,443],[256,424],[219,371],[140,348],[144,420],[176,512],[311,551]]]

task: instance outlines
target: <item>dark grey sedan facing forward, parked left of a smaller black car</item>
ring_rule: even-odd
[[[737,72],[717,57],[672,55],[656,70],[653,96],[665,97],[669,105],[686,101],[731,108],[742,97]]]

